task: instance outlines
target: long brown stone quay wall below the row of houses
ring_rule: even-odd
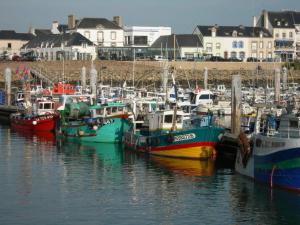
[[[123,85],[126,81],[127,86],[131,86],[134,79],[135,86],[146,87],[159,85],[164,63],[166,62],[95,60],[93,65],[98,71],[98,81],[103,84]],[[12,70],[14,84],[20,83],[20,74],[16,74],[18,67],[35,69],[54,82],[64,79],[76,83],[80,81],[83,66],[86,67],[88,79],[91,65],[91,61],[0,62],[0,86],[4,86],[6,68]],[[270,84],[275,69],[282,65],[269,62],[168,62],[170,70],[175,73],[176,81],[184,87],[195,87],[196,83],[203,86],[205,68],[208,69],[208,83],[212,85],[230,85],[232,76],[236,74],[241,75],[243,85],[261,85],[261,82]],[[289,70],[288,81],[300,82],[300,70]]]

